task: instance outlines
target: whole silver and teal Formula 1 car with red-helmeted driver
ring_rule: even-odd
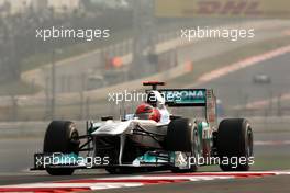
[[[171,170],[193,172],[200,166],[220,164],[223,171],[247,171],[254,162],[253,132],[247,120],[230,118],[217,126],[213,90],[158,89],[164,82],[144,82],[145,103],[121,120],[87,122],[87,134],[76,124],[53,121],[43,152],[34,155],[32,170],[52,175],[76,169],[103,168],[109,173]],[[172,115],[170,107],[203,107],[205,118]]]

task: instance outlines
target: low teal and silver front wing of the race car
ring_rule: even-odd
[[[101,169],[101,168],[164,168],[177,167],[188,169],[186,157],[180,151],[176,152],[146,152],[136,158],[132,163],[110,164],[108,159],[99,157],[81,157],[76,154],[35,154],[34,167],[31,170],[46,170],[47,168],[71,169]],[[180,156],[183,157],[180,159]],[[180,161],[181,160],[181,161]]]

